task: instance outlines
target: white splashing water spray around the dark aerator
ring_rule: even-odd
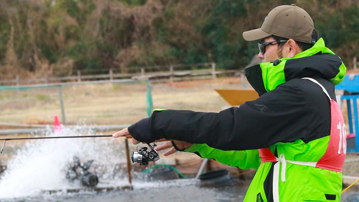
[[[42,135],[92,134],[91,128],[78,125],[74,128],[62,126],[61,134],[56,135],[48,127]],[[0,198],[35,196],[43,190],[81,187],[79,182],[70,183],[65,178],[67,165],[73,161],[73,156],[78,156],[81,162],[94,160],[92,167],[95,169],[92,169],[99,175],[99,184],[106,180],[111,185],[128,184],[126,175],[114,166],[126,162],[123,153],[123,144],[111,137],[27,141],[8,162],[8,169],[0,178]]]

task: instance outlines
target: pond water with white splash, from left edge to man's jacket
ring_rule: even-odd
[[[48,127],[42,136],[92,135],[86,125],[75,128],[62,127],[61,134],[54,134]],[[75,202],[118,201],[132,202],[155,199],[164,201],[242,201],[249,186],[225,187],[225,189],[196,187],[196,179],[145,182],[134,179],[134,190],[114,192],[67,193],[66,189],[81,188],[80,182],[70,183],[65,178],[67,165],[78,156],[81,162],[94,160],[90,170],[99,176],[97,187],[129,185],[127,174],[121,171],[126,164],[123,139],[111,137],[40,139],[27,141],[7,164],[8,169],[0,175],[0,201],[8,202]],[[9,153],[8,143],[4,152]],[[126,166],[124,166],[126,168]],[[123,166],[122,166],[123,169]],[[136,172],[133,172],[136,175]],[[53,194],[43,190],[64,190]],[[166,194],[163,194],[166,193]],[[183,193],[186,193],[183,195]]]

